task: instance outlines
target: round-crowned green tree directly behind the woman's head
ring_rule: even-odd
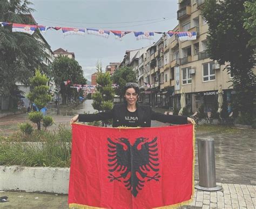
[[[113,82],[118,85],[116,94],[122,97],[124,94],[125,84],[128,82],[137,82],[136,74],[132,71],[131,67],[121,67],[114,72]]]

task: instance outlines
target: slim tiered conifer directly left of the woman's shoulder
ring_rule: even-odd
[[[102,72],[102,64],[99,61],[96,64],[96,70],[98,86],[97,92],[92,94],[92,107],[98,112],[104,112],[113,108],[114,90],[112,88],[112,79],[108,72]],[[103,121],[103,126],[106,127],[109,122]]]

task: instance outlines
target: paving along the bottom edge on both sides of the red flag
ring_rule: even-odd
[[[223,189],[217,192],[195,189],[192,203],[181,208],[255,208],[256,186],[221,183],[217,185],[222,186]],[[0,208],[68,208],[67,195],[0,192],[0,196],[7,196],[9,200],[0,203]]]

